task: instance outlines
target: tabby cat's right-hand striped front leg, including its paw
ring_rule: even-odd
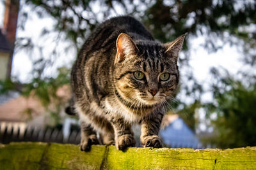
[[[145,118],[145,120],[141,122],[140,140],[143,147],[163,147],[163,142],[158,136],[162,119],[163,115],[161,113],[155,113],[154,116]]]

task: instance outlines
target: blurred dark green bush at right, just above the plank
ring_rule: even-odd
[[[214,136],[205,139],[220,148],[256,146],[256,85],[245,87],[241,81],[227,78],[223,82],[229,90],[216,92],[216,103],[205,104]]]

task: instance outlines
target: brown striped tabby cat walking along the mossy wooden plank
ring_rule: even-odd
[[[111,18],[97,27],[71,73],[71,108],[81,121],[81,150],[101,142],[118,150],[134,146],[132,124],[141,125],[142,146],[163,147],[158,133],[179,83],[184,37],[159,43],[132,17]]]

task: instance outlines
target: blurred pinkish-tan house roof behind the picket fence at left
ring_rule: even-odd
[[[56,91],[56,96],[60,97],[58,100],[63,103],[68,103],[68,99],[71,96],[70,87],[63,85]],[[4,97],[6,98],[4,99]],[[52,101],[49,108],[54,110],[54,107],[54,101]],[[0,122],[26,122],[44,115],[46,111],[33,91],[27,97],[14,93],[0,96]]]

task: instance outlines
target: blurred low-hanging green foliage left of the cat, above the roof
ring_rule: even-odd
[[[25,97],[36,97],[52,117],[52,122],[54,123],[51,124],[58,126],[61,124],[60,111],[67,105],[67,99],[63,99],[63,96],[58,96],[57,90],[63,85],[69,84],[69,81],[70,69],[60,67],[56,78],[33,78],[29,83],[20,83],[9,79],[0,81],[0,94],[7,94],[11,90],[19,91]],[[36,112],[32,108],[27,108],[23,111],[23,114],[26,120],[31,120],[33,113]]]

